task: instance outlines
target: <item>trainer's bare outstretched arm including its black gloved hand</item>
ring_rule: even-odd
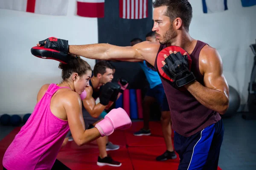
[[[62,40],[55,37],[50,37],[50,38],[47,38],[46,40],[39,41],[37,45],[64,52],[63,54],[64,56],[67,55],[67,53],[70,53],[70,54],[76,54],[88,59],[120,60],[120,61],[146,60],[151,65],[154,65],[157,51],[160,47],[159,43],[152,43],[148,41],[140,42],[134,46],[126,46],[126,47],[111,45],[107,43],[88,44],[88,45],[68,45],[67,40]],[[50,54],[52,53],[53,52],[50,52]],[[59,55],[62,55],[62,54],[59,54]],[[48,57],[48,56],[44,56],[44,57]],[[50,57],[52,56],[50,55]]]

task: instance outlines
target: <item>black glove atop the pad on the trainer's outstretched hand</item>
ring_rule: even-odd
[[[41,46],[44,46],[44,48],[55,49],[57,51],[64,52],[64,54],[67,54],[69,52],[68,40],[62,40],[62,39],[58,39],[55,37],[49,37],[45,40],[39,41],[39,44]]]

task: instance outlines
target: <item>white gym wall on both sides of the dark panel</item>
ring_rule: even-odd
[[[256,6],[245,8],[241,0],[230,0],[227,11],[203,14],[201,2],[190,0],[193,8],[190,34],[218,50],[224,76],[239,92],[244,104],[253,64],[249,45],[256,39]],[[70,44],[98,43],[98,20],[76,16],[75,9],[72,0],[67,16],[61,17],[0,9],[0,115],[31,113],[41,85],[60,82],[58,62],[39,59],[30,53],[38,40],[54,36],[69,40]],[[123,45],[130,41],[130,38],[118,38],[125,41]],[[94,66],[95,60],[85,60]]]

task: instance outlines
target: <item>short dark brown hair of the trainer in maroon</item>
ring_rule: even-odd
[[[192,6],[188,0],[155,0],[152,4],[154,8],[167,6],[165,15],[169,17],[171,21],[180,17],[183,27],[186,31],[189,31],[189,25],[192,20]]]

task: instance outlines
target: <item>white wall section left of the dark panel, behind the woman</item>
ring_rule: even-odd
[[[75,9],[74,0],[69,0],[67,16],[0,9],[0,115],[31,113],[41,86],[61,81],[59,62],[31,54],[39,40],[58,37],[69,44],[98,43],[97,18],[76,16]],[[95,65],[95,59],[85,60]]]

